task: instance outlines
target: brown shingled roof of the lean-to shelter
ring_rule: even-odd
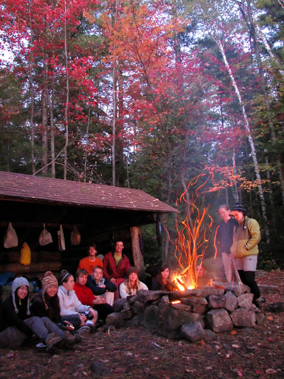
[[[41,204],[178,212],[140,189],[128,189],[0,171],[0,200]]]

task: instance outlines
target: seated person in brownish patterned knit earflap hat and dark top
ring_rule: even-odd
[[[74,327],[69,321],[62,321],[60,316],[60,305],[58,298],[58,281],[51,271],[46,271],[41,280],[42,291],[36,295],[31,303],[31,312],[38,317],[48,317],[56,323],[59,328],[67,331],[73,331]],[[78,335],[71,336],[69,332],[65,333],[70,344],[78,343],[81,338]]]

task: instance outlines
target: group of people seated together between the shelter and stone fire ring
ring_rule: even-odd
[[[80,261],[76,271],[76,281],[66,270],[58,279],[47,271],[42,291],[31,303],[28,280],[22,276],[14,279],[12,295],[3,303],[0,297],[0,347],[18,348],[35,335],[48,351],[55,346],[70,348],[106,321],[119,295],[126,298],[148,290],[122,250],[123,242],[117,241],[115,251],[107,253],[102,262],[96,257],[96,245],[89,246],[88,257]],[[152,290],[172,290],[169,273],[168,266],[161,266]]]

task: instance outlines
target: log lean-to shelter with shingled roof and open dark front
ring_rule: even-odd
[[[41,276],[46,270],[73,272],[87,255],[89,243],[97,242],[98,254],[110,251],[115,240],[124,242],[124,253],[133,265],[143,268],[141,226],[155,223],[161,213],[177,210],[139,189],[95,185],[62,179],[0,171],[0,272]],[[6,249],[3,238],[11,222],[18,247]],[[40,246],[43,225],[53,242]],[[66,250],[58,250],[62,225]],[[76,226],[79,245],[71,245]],[[19,263],[20,250],[27,242],[32,252],[30,265]]]

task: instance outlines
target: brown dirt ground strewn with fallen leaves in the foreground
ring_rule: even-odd
[[[142,327],[109,334],[101,328],[84,344],[53,355],[34,346],[0,349],[0,378],[284,378],[284,312],[269,311],[269,304],[284,302],[283,277],[281,270],[257,273],[258,283],[281,291],[265,296],[264,322],[254,328],[197,343],[168,340]]]

